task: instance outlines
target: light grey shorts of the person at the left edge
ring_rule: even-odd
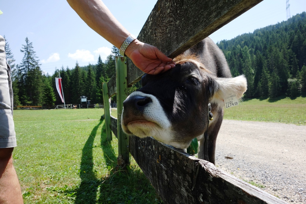
[[[10,67],[6,63],[5,41],[0,35],[0,148],[16,147],[13,122],[13,91]]]

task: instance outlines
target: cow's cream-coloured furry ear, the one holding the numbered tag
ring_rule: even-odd
[[[215,90],[211,95],[211,102],[224,106],[224,99],[235,94],[239,99],[247,90],[247,80],[244,75],[234,78],[217,78],[214,80]]]

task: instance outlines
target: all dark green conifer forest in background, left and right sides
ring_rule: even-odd
[[[306,13],[287,21],[256,29],[231,40],[217,43],[223,51],[232,76],[244,74],[248,90],[244,98],[295,98],[306,96]],[[21,52],[24,57],[15,64],[13,53],[6,41],[6,60],[11,66],[14,106],[50,106],[63,104],[55,86],[58,72],[66,104],[79,104],[80,96],[87,96],[91,104],[103,103],[102,83],[116,72],[116,47],[106,61],[101,57],[96,64],[73,68],[61,67],[52,76],[40,69],[32,43],[25,39]],[[136,90],[139,83],[130,88]]]

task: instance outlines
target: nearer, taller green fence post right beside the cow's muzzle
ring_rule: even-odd
[[[120,120],[123,109],[123,101],[128,96],[126,57],[116,57],[116,83],[117,83],[117,113],[118,113],[117,131],[118,131],[118,153],[119,153],[117,162],[119,165],[122,166],[130,163],[129,137],[122,131],[121,120]]]

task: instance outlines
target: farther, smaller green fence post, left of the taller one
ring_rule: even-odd
[[[106,131],[107,141],[110,142],[112,140],[112,130],[110,128],[110,103],[108,101],[109,97],[108,97],[107,82],[103,82],[102,90],[103,90],[105,131]]]

